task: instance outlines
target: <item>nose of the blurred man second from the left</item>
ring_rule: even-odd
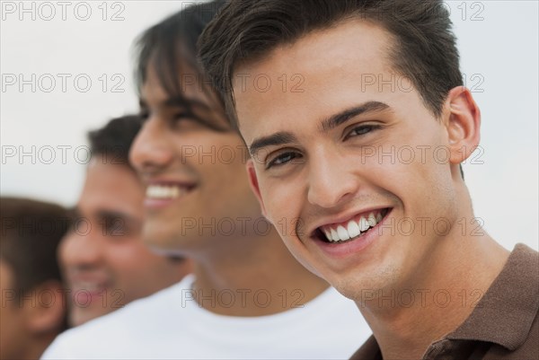
[[[65,268],[95,268],[102,260],[96,224],[74,224],[73,229],[60,243],[59,260]]]

